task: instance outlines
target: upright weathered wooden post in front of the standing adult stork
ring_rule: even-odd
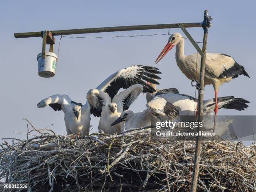
[[[204,21],[202,22],[202,28],[204,29],[204,40],[202,46],[202,52],[204,56],[201,59],[201,68],[200,68],[200,85],[201,89],[198,90],[198,119],[197,121],[202,121],[203,115],[203,103],[204,103],[204,87],[205,87],[205,59],[206,59],[206,46],[207,46],[207,36],[208,36],[208,28],[210,27],[210,20],[212,18],[208,16],[208,11],[205,10],[204,14]],[[197,127],[197,132],[200,131],[200,128]],[[197,179],[199,176],[199,163],[200,163],[200,156],[201,156],[201,143],[200,136],[196,138],[196,146],[195,146],[195,156],[194,156],[194,166],[193,166],[193,173],[192,173],[192,182],[190,191],[196,192],[197,191]]]

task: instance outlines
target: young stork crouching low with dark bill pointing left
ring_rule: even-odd
[[[125,110],[111,126],[125,122],[125,129],[141,128],[151,125],[151,118],[161,120],[172,120],[178,115],[178,110],[171,103],[163,98],[155,98],[146,104],[147,108],[142,112],[134,113],[132,110]]]

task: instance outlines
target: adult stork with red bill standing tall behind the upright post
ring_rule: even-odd
[[[179,69],[190,80],[196,79],[199,81],[201,57],[198,56],[197,58],[197,54],[184,55],[184,38],[180,33],[174,33],[169,37],[168,43],[155,62],[161,61],[174,46],[176,46],[175,56]],[[218,113],[217,93],[220,85],[230,82],[241,74],[249,77],[244,67],[239,65],[231,56],[226,54],[206,54],[205,85],[212,84],[215,90],[215,116]]]

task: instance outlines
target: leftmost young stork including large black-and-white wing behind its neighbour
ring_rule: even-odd
[[[118,93],[120,88],[128,88],[133,84],[142,84],[142,92],[154,92],[155,89],[146,82],[156,83],[154,79],[161,79],[156,74],[161,74],[156,67],[133,65],[124,69],[120,69],[114,74],[110,75],[103,81],[96,89],[106,92],[111,99]],[[77,133],[82,131],[88,135],[90,129],[90,114],[100,117],[101,108],[94,108],[86,102],[85,105],[70,100],[68,95],[53,95],[37,104],[38,108],[51,106],[55,111],[64,112],[64,121],[67,128],[67,133]],[[79,112],[80,108],[81,112]],[[77,117],[78,116],[78,117]],[[77,120],[76,120],[77,118]]]

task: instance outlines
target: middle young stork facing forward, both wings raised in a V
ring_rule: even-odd
[[[107,93],[94,89],[87,93],[87,101],[92,107],[101,110],[100,122],[98,129],[106,134],[120,133],[124,126],[120,123],[115,126],[110,126],[123,110],[128,110],[134,100],[140,95],[143,90],[141,84],[134,84],[131,87],[123,90],[118,95],[115,95],[111,100]]]

